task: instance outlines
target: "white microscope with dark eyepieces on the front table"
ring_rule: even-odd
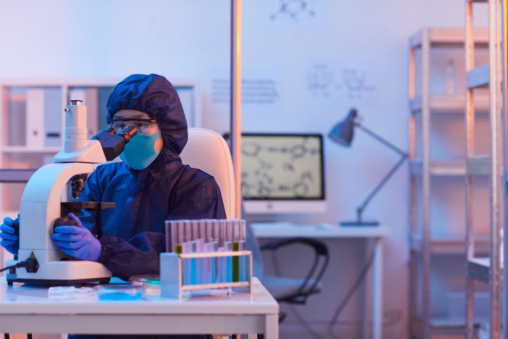
[[[111,277],[104,265],[87,260],[77,260],[61,252],[51,239],[56,226],[76,225],[67,218],[69,212],[83,215],[83,210],[114,208],[112,202],[61,202],[62,192],[72,189],[77,199],[94,166],[115,159],[126,143],[137,133],[130,126],[115,133],[112,128],[100,131],[88,140],[86,106],[81,100],[71,100],[65,107],[65,140],[52,164],[38,169],[30,177],[23,191],[19,211],[18,260],[9,260],[11,268],[7,281],[44,285],[68,285],[87,282],[107,283]]]

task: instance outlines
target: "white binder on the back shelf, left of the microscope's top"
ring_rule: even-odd
[[[45,144],[44,108],[45,93],[42,88],[26,90],[26,147],[41,148]]]

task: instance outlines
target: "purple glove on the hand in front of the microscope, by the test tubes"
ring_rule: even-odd
[[[81,260],[98,261],[101,256],[101,242],[81,224],[73,213],[69,218],[78,226],[57,226],[51,235],[53,242],[68,256]]]

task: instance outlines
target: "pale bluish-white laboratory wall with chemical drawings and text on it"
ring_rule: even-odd
[[[424,26],[464,23],[463,0],[290,1],[305,4],[290,12],[282,10],[284,1],[242,3],[243,131],[326,135],[355,107],[367,128],[404,150],[408,147],[408,37]],[[202,126],[229,129],[229,1],[3,0],[0,30],[2,80],[120,81],[133,73],[162,74],[170,81],[198,84]],[[439,91],[442,79],[436,74],[433,88]],[[355,218],[355,207],[398,160],[396,153],[357,132],[349,148],[325,138],[327,211],[272,219],[336,224]],[[449,131],[455,134],[451,139],[463,138],[462,132]],[[383,293],[384,337],[390,339],[407,337],[407,171],[404,165],[365,211],[391,229],[385,246]],[[457,199],[463,199],[460,193]],[[463,218],[460,211],[451,216],[448,210],[436,213],[435,220]],[[363,240],[326,243],[332,259],[323,292],[310,298],[306,307],[297,306],[319,333],[326,333],[333,311],[370,254],[370,244]],[[301,276],[301,267],[310,265],[307,252],[297,250],[279,255],[283,274]],[[268,271],[273,271],[272,258],[265,259]],[[359,335],[366,316],[360,295],[354,295],[335,326],[341,337]],[[441,306],[436,313],[445,312],[446,305]],[[291,310],[284,306],[283,311],[289,317],[281,325],[281,336],[309,337]]]

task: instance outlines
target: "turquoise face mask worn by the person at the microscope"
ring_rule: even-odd
[[[162,135],[161,131],[152,136],[138,133],[125,145],[120,159],[127,166],[142,170],[148,167],[157,158],[161,151],[155,151],[155,141]]]

